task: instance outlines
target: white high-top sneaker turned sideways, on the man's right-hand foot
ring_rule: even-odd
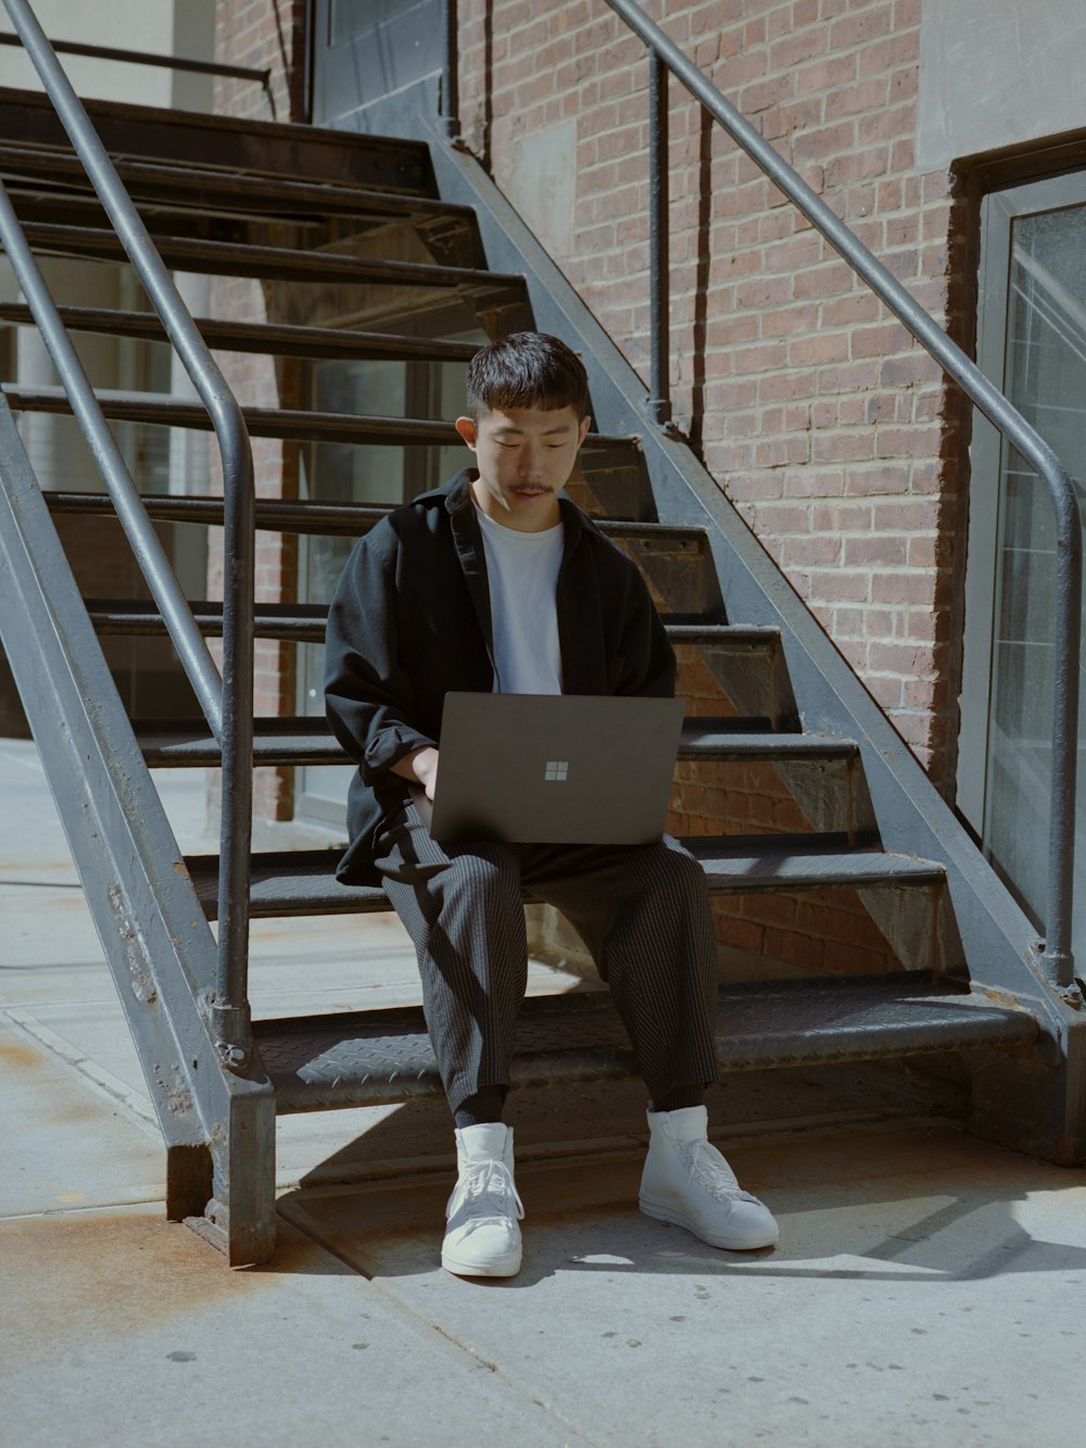
[[[675,1222],[710,1247],[750,1251],[773,1247],[780,1229],[769,1208],[740,1190],[736,1173],[710,1142],[704,1106],[649,1112],[649,1156],[640,1208]]]

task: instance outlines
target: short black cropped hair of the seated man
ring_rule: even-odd
[[[540,407],[553,413],[572,407],[588,411],[588,374],[576,352],[546,332],[514,332],[479,348],[468,363],[468,411],[478,423],[484,413],[511,407]]]

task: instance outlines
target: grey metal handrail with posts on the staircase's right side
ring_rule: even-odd
[[[669,236],[668,236],[668,72],[676,77],[724,127],[750,159],[802,211],[851,269],[902,321],[919,345],[959,384],[988,420],[1037,469],[1056,513],[1056,685],[1053,699],[1053,778],[1048,830],[1048,901],[1040,960],[1060,989],[1074,986],[1072,909],[1074,899],[1074,789],[1077,770],[1079,654],[1082,644],[1082,515],[1074,484],[1054,450],[1016,411],[976,363],[924,311],[901,282],[853,235],[825,201],[778,155],[750,122],[683,55],[675,42],[633,0],[607,4],[649,48],[650,127],[650,382],[647,407],[662,426],[670,424],[669,359]],[[455,4],[446,0],[446,17]],[[450,136],[459,133],[455,114],[456,46],[446,55],[442,113]],[[452,75],[449,75],[452,70]],[[449,109],[452,106],[452,110]]]

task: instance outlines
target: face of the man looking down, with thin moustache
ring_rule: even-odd
[[[487,517],[518,533],[555,527],[562,520],[557,494],[588,424],[573,407],[513,407],[484,413],[478,423],[458,417],[456,432],[479,469],[472,492]]]

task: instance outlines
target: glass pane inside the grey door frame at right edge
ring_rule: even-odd
[[[1080,469],[1086,456],[1086,206],[1014,220],[1003,387],[1064,463]],[[1014,449],[1005,447],[985,851],[1041,928],[1048,882],[1054,586],[1054,524],[1047,488]],[[1082,669],[1079,678],[1082,685]],[[1079,728],[1082,757],[1083,718]],[[1080,788],[1076,814],[1080,860],[1086,859],[1085,796]],[[1074,934],[1076,953],[1082,956],[1086,892],[1077,893]]]

